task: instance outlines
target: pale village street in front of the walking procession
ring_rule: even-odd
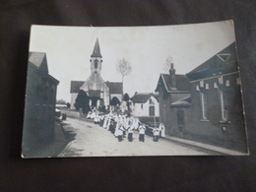
[[[70,142],[58,157],[122,157],[122,156],[207,156],[210,153],[145,135],[145,143],[139,142],[139,133],[134,131],[133,142],[124,138],[118,142],[110,131],[93,122],[75,118],[63,121],[63,129]]]

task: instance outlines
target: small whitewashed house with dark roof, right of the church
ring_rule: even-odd
[[[160,116],[159,100],[157,94],[135,93],[131,97],[132,114],[134,116]]]

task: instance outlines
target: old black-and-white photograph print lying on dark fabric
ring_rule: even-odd
[[[232,21],[31,28],[23,158],[247,156]]]

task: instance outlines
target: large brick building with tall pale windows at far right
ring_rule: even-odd
[[[246,152],[235,42],[187,74],[191,123],[186,137]]]

